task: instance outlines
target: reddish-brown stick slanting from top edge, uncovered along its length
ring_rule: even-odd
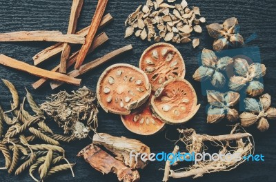
[[[86,58],[86,54],[90,48],[90,45],[92,44],[92,41],[95,37],[95,34],[99,28],[99,23],[101,22],[101,17],[103,17],[103,12],[106,10],[106,5],[108,3],[108,0],[99,0],[97,4],[97,8],[95,11],[95,14],[93,16],[91,26],[89,28],[88,34],[86,36],[86,43],[83,44],[81,47],[81,50],[79,50],[79,56],[77,57],[77,62],[75,64],[75,69],[79,70],[81,68],[81,65]]]

